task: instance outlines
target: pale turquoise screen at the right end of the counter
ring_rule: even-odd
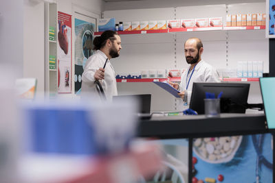
[[[275,77],[260,78],[261,93],[263,97],[263,106],[267,119],[267,127],[275,130]]]

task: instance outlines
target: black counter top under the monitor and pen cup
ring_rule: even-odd
[[[268,132],[264,114],[221,114],[219,118],[197,116],[152,117],[140,121],[137,136],[188,138]]]

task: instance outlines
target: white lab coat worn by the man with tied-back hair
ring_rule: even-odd
[[[97,93],[96,85],[94,84],[94,74],[96,73],[96,70],[103,68],[106,59],[107,56],[100,50],[97,50],[94,55],[88,58],[82,75],[81,95]],[[114,95],[118,95],[115,71],[113,70],[113,66],[111,66],[110,60],[107,61],[105,66],[104,80],[101,80],[100,82],[107,100],[111,100]]]

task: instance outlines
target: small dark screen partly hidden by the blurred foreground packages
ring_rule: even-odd
[[[138,112],[140,114],[150,114],[151,113],[151,94],[141,94],[141,95],[118,95],[113,96],[113,100],[121,99],[123,97],[135,97],[140,101],[140,108]]]

